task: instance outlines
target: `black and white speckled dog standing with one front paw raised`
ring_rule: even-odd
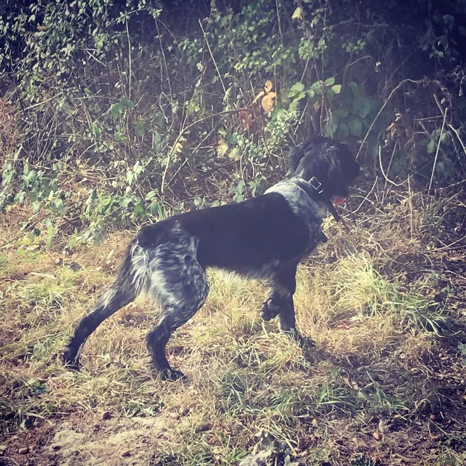
[[[293,306],[296,267],[326,240],[321,223],[327,209],[339,219],[332,201],[347,196],[359,165],[346,146],[324,137],[292,150],[288,165],[291,178],[261,196],[142,228],[131,241],[116,280],[76,328],[63,355],[65,364],[77,368],[83,345],[100,322],[143,294],[163,308],[147,335],[153,366],[165,379],[183,377],[168,364],[165,346],[207,298],[209,266],[266,280],[270,292],[262,317],[279,315],[281,329],[300,338]]]

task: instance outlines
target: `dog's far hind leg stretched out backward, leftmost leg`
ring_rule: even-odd
[[[79,356],[89,335],[101,322],[136,298],[137,293],[129,281],[129,256],[125,258],[118,277],[97,301],[95,308],[78,324],[62,356],[63,363],[72,369],[78,369]]]

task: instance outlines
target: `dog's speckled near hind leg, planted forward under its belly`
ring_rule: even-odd
[[[209,287],[204,269],[190,254],[167,251],[157,261],[151,287],[162,302],[162,317],[148,333],[146,341],[152,364],[162,378],[184,378],[183,372],[168,364],[165,347],[170,335],[202,307]]]

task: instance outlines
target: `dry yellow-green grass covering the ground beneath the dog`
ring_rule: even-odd
[[[145,300],[101,324],[80,372],[57,359],[132,232],[66,253],[40,238],[4,246],[0,464],[54,464],[69,451],[68,465],[236,465],[254,454],[278,465],[287,454],[306,465],[464,464],[464,279],[459,250],[445,248],[457,238],[440,228],[458,199],[377,196],[347,231],[329,223],[331,240],[299,268],[298,322],[315,346],[260,319],[261,283],[210,271],[206,304],[168,345],[186,383],[150,370],[157,309]],[[14,217],[3,220],[15,238]]]

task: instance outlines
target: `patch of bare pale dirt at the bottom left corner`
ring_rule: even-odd
[[[97,422],[70,418],[18,433],[7,442],[0,466],[148,464],[164,453],[174,424],[183,422],[165,414],[101,417]]]

